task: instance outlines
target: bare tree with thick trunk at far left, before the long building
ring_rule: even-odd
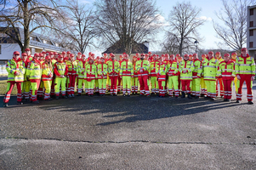
[[[17,42],[22,52],[29,47],[33,31],[44,27],[54,28],[54,20],[59,18],[54,0],[9,0],[9,6],[12,8],[0,11],[0,24],[4,28],[1,32]],[[24,41],[20,37],[19,27],[23,28]]]

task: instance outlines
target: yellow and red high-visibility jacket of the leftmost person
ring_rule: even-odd
[[[8,71],[8,82],[24,82],[24,74],[26,72],[25,63],[22,59],[11,59],[6,65],[6,71]],[[15,76],[15,73],[19,72],[19,76]]]

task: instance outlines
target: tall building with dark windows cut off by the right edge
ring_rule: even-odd
[[[247,7],[247,50],[256,59],[256,5]]]

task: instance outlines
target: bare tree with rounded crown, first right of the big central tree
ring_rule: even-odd
[[[179,54],[184,50],[195,48],[195,40],[201,39],[197,28],[202,26],[205,20],[199,18],[200,8],[192,7],[191,3],[177,3],[171,10],[168,22],[170,24],[169,34],[172,34],[179,46]]]

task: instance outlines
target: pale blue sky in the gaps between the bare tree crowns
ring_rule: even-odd
[[[156,7],[159,8],[160,14],[162,15],[162,20],[167,22],[168,14],[170,10],[180,1],[170,1],[170,0],[156,0]],[[80,3],[93,4],[94,0],[80,0]],[[221,0],[191,0],[191,5],[197,8],[201,8],[202,11],[199,15],[200,18],[206,20],[203,26],[201,26],[198,31],[200,36],[203,38],[202,42],[199,42],[199,48],[218,48],[216,42],[221,41],[216,37],[216,32],[213,29],[213,20],[219,22],[215,12],[219,12],[222,7]],[[159,33],[156,39],[161,41],[164,39],[164,33]],[[100,55],[102,53],[101,49],[88,49],[94,51],[94,54]],[[104,50],[104,49],[102,49]],[[161,46],[159,44],[150,44],[149,51],[159,51]],[[86,51],[88,54],[88,51]]]

